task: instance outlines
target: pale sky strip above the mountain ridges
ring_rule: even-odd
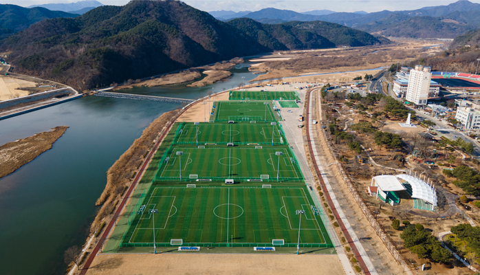
[[[43,3],[73,3],[78,0],[0,0],[2,4],[39,5]],[[129,0],[97,0],[104,5],[124,5]],[[213,10],[257,11],[263,8],[277,8],[306,12],[309,10],[333,10],[335,12],[378,12],[381,10],[416,10],[426,6],[448,5],[452,0],[183,0],[188,5],[207,12]],[[480,0],[470,0],[480,3]]]

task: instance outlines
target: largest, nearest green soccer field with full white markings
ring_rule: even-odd
[[[122,246],[155,243],[169,246],[171,239],[199,246],[272,245],[280,239],[296,246],[301,219],[300,243],[332,247],[320,213],[305,186],[290,188],[162,188],[153,186],[138,211]],[[151,213],[149,210],[157,212]],[[303,214],[296,214],[303,210]],[[290,244],[290,245],[289,245]]]

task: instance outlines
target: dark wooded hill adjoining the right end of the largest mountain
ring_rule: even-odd
[[[292,25],[262,24],[249,18],[232,19],[228,23],[272,50],[335,47],[335,44],[325,37]]]

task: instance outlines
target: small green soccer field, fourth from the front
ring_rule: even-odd
[[[276,117],[272,111],[272,102],[215,102],[215,121],[256,121],[274,122]]]

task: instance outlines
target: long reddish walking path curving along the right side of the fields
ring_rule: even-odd
[[[335,208],[334,202],[331,201],[331,197],[330,197],[329,192],[327,190],[327,186],[325,186],[325,181],[323,181],[322,174],[320,173],[320,170],[318,169],[318,165],[317,165],[316,159],[315,159],[314,150],[312,148],[312,138],[310,137],[310,132],[309,132],[310,93],[311,93],[311,91],[309,91],[307,93],[307,95],[308,95],[307,96],[307,111],[305,111],[305,121],[307,123],[305,123],[305,131],[307,131],[308,149],[309,149],[310,155],[312,156],[312,163],[314,164],[315,173],[316,173],[318,179],[320,180],[320,185],[322,186],[323,193],[325,194],[325,197],[327,197],[327,202],[328,202],[328,204],[331,208],[331,212],[333,212],[333,214],[335,215],[335,218],[338,221],[338,225],[340,225],[340,229],[342,230],[343,234],[345,235],[345,238],[347,239],[347,241],[350,245],[351,251],[353,252],[353,255],[355,255],[355,258],[358,261],[358,265],[360,265],[360,268],[362,268],[364,274],[371,274],[367,265],[365,265],[365,262],[363,261],[362,256],[358,252],[358,249],[357,249],[355,243],[353,243],[353,240],[351,239],[351,236],[350,236],[347,228],[345,227],[345,224],[342,222],[342,219],[340,218],[340,215],[338,214],[338,211]]]

